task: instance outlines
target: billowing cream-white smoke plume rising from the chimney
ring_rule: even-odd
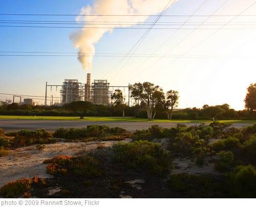
[[[91,7],[81,8],[81,15],[84,14],[99,14],[99,15],[154,15],[163,10],[169,0],[94,0]],[[77,16],[76,21],[128,21],[133,22],[130,25],[86,25],[79,31],[70,34],[70,39],[73,41],[75,48],[79,48],[78,60],[86,71],[91,71],[93,68],[92,61],[95,54],[94,45],[106,32],[113,32],[115,27],[131,27],[139,22],[144,22],[148,16]],[[96,23],[96,22],[94,22]],[[96,27],[108,27],[96,28]],[[92,56],[83,56],[84,53],[90,53]]]

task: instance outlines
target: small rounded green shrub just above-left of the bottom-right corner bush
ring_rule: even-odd
[[[219,156],[219,159],[215,163],[215,169],[223,172],[233,166],[234,156],[231,151],[220,151],[217,156]]]

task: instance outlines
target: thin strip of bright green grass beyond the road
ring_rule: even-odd
[[[167,120],[167,119],[154,119],[148,121],[143,118],[134,117],[65,117],[65,116],[4,116],[0,115],[0,119],[31,119],[31,120],[68,120],[68,121],[126,121],[126,122],[170,122],[170,123],[210,123],[212,120]],[[221,123],[256,123],[256,120],[218,120]]]

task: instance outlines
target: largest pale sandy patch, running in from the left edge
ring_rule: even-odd
[[[130,142],[130,139],[121,142]],[[105,141],[100,144],[110,146],[118,141]],[[120,141],[119,141],[120,142]],[[35,149],[35,145],[26,146],[11,150],[8,156],[0,158],[0,188],[12,180],[20,178],[53,177],[46,173],[47,164],[43,164],[46,159],[57,155],[76,155],[97,148],[99,142],[58,142],[47,144],[42,150]]]

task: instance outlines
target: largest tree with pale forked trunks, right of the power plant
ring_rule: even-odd
[[[130,86],[131,97],[140,102],[140,106],[147,110],[148,120],[153,120],[156,111],[163,105],[163,89],[152,83],[135,83]]]

